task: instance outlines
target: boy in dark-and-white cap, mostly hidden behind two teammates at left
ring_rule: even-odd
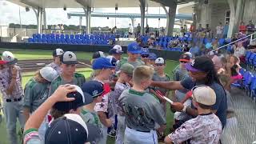
[[[52,67],[54,70],[56,70],[58,72],[58,74],[61,74],[62,73],[62,68],[61,68],[60,57],[61,57],[62,54],[64,54],[64,51],[62,49],[54,50],[53,51],[53,59],[54,59],[54,61],[51,62],[46,67]]]

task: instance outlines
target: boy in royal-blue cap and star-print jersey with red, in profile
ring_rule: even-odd
[[[113,110],[110,110],[110,85],[107,82],[109,82],[110,75],[114,73],[115,66],[110,63],[109,58],[96,58],[93,62],[92,68],[94,70],[94,80],[102,82],[102,85],[104,86],[102,102],[96,103],[96,105],[94,106],[94,110],[97,111],[98,117],[102,122],[103,137],[100,139],[99,143],[106,143],[107,128],[112,126],[113,122],[111,120],[111,116],[114,115],[113,113],[111,113],[113,112]]]

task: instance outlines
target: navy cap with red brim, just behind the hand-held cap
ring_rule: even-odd
[[[92,98],[96,98],[103,94],[104,87],[101,82],[89,81],[82,85],[82,92],[90,94]]]

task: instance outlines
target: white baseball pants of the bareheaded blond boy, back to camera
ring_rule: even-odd
[[[140,132],[126,126],[125,144],[158,144],[158,134],[155,130]]]

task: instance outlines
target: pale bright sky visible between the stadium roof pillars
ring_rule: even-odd
[[[6,0],[0,0],[0,26],[8,26],[9,23],[20,23],[19,11],[21,15],[21,22],[24,25],[37,24],[36,16],[34,10],[26,12],[25,7],[18,6],[12,2]],[[83,12],[82,9],[46,9],[46,22],[47,25],[54,24],[66,24],[66,25],[78,25],[79,18],[72,17],[67,18],[67,13],[69,12]],[[101,8],[94,9],[94,12],[98,13],[114,13],[114,8]],[[118,8],[117,13],[133,13],[140,14],[139,8]],[[149,14],[165,14],[162,8],[149,8]],[[103,22],[102,22],[103,19]],[[128,27],[131,23],[130,18],[117,18],[117,27]],[[140,23],[140,18],[135,19],[135,26]],[[150,27],[166,26],[166,19],[148,19],[148,24]],[[86,18],[82,18],[82,25],[86,25]],[[115,18],[91,18],[91,26],[109,26],[114,27]]]

